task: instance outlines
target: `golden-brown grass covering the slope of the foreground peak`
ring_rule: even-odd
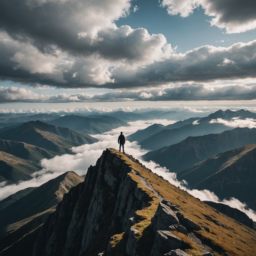
[[[191,196],[186,191],[177,188],[168,181],[159,177],[157,174],[152,173],[147,168],[135,161],[132,161],[126,155],[113,149],[112,152],[113,154],[119,155],[119,157],[124,159],[127,164],[138,172],[138,174],[145,177],[148,183],[150,183],[152,187],[161,194],[161,196],[170,200],[174,204],[180,205],[183,209],[181,213],[186,217],[196,222],[199,226],[201,226],[200,223],[202,223],[204,226],[209,227],[210,233],[202,229],[198,231],[197,234],[206,240],[209,246],[215,251],[215,255],[219,255],[217,251],[222,251],[223,255],[228,256],[255,256],[256,232],[254,230],[238,223],[222,213],[217,212],[215,209]],[[137,211],[137,214],[141,216],[142,221],[134,225],[135,229],[140,230],[140,233],[138,233],[137,236],[138,243],[143,245],[145,241],[147,241],[147,243],[150,243],[150,241],[153,242],[152,233],[148,226],[151,223],[151,217],[154,216],[160,200],[148,187],[142,184],[140,177],[138,177],[134,171],[129,173],[129,175],[132,179],[137,181],[138,186],[141,187],[142,190],[147,191],[147,193],[153,198],[150,207]],[[220,221],[223,224],[223,227],[217,226],[212,220]],[[188,239],[187,236],[178,232],[173,232],[173,234],[180,236],[184,242],[190,244],[190,247],[192,248],[187,252],[189,255],[202,255],[203,251],[200,247]],[[111,242],[113,255],[125,255],[124,246],[126,244],[125,240],[127,239],[127,233],[116,234],[114,237],[115,240]]]

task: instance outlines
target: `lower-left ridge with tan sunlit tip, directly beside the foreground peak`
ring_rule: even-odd
[[[1,210],[0,251],[42,225],[63,195],[83,180],[74,172],[64,173]]]

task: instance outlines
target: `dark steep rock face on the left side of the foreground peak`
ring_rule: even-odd
[[[33,255],[78,256],[90,249],[94,237],[108,227],[99,253],[112,234],[127,230],[135,211],[152,200],[129,176],[131,167],[110,150],[103,152],[85,181],[63,196],[55,213],[50,214],[37,237]]]

